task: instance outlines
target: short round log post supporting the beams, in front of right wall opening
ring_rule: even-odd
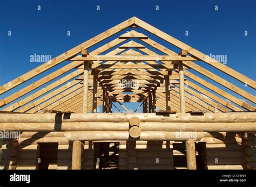
[[[197,169],[196,145],[193,139],[186,140],[187,169]]]

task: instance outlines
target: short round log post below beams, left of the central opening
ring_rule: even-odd
[[[83,147],[82,142],[80,142],[78,140],[73,141],[72,169],[81,169],[82,147]]]

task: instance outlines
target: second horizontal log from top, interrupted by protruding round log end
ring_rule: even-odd
[[[140,124],[143,131],[197,131],[197,132],[250,132],[256,130],[255,123],[153,123]],[[0,123],[5,131],[128,131],[129,123],[77,122],[77,123]]]

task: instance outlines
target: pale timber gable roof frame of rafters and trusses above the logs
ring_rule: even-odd
[[[170,49],[158,44],[156,41],[151,40],[149,37],[147,37],[143,33],[139,33],[137,31],[132,30],[130,32],[120,35],[118,38],[95,49],[94,51],[90,52],[90,54],[87,53],[87,55],[85,56],[78,55],[79,53],[81,53],[81,51],[83,50],[86,51],[86,49],[92,47],[93,45],[98,44],[98,42],[101,42],[106,38],[109,38],[112,35],[116,34],[117,32],[122,31],[128,27],[143,28],[144,30],[169,42],[171,45],[178,47],[182,53],[186,52],[187,54],[185,56],[182,54],[177,54],[171,51]],[[125,44],[122,44],[123,42],[131,38],[136,38],[139,41],[142,41],[144,44],[149,45],[157,49],[157,51],[164,53],[166,55],[159,55],[151,51],[150,49],[146,48],[146,46],[144,46],[143,44],[140,44],[133,40],[126,42]],[[113,49],[111,52],[108,52],[105,55],[100,55],[118,45],[120,46],[116,49]],[[131,48],[134,48],[136,50]],[[144,55],[143,53],[147,55]],[[185,87],[186,111],[191,111],[191,110],[206,110],[208,112],[255,111],[255,107],[249,104],[248,102],[238,99],[237,97],[234,97],[230,93],[227,93],[226,91],[221,90],[215,85],[205,81],[203,78],[192,74],[189,71],[189,69],[196,70],[201,75],[210,78],[214,82],[220,85],[223,85],[225,88],[233,91],[234,93],[237,93],[238,95],[244,97],[247,100],[250,100],[253,103],[255,103],[255,96],[251,95],[251,93],[248,93],[245,90],[242,90],[241,88],[224,80],[218,75],[211,73],[211,71],[208,71],[203,67],[200,67],[198,64],[192,61],[204,61],[207,64],[211,65],[212,67],[217,68],[218,70],[223,71],[225,74],[237,79],[238,81],[242,83],[246,83],[249,87],[253,89],[255,89],[255,85],[256,85],[255,81],[227,67],[225,64],[215,61],[214,59],[211,59],[211,57],[197,51],[196,49],[184,44],[183,42],[171,37],[170,35],[158,30],[157,28],[145,23],[143,20],[140,20],[136,17],[132,17],[124,21],[123,23],[110,28],[110,30],[107,30],[97,35],[96,37],[83,42],[83,44],[80,44],[70,49],[69,51],[55,57],[51,61],[46,62],[41,66],[38,66],[37,68],[29,71],[28,73],[25,73],[24,75],[19,76],[15,80],[12,80],[9,83],[4,84],[2,87],[0,87],[0,95],[2,95],[5,92],[8,92],[9,90],[17,87],[18,85],[23,84],[26,81],[29,81],[31,78],[43,73],[46,70],[49,70],[50,68],[66,60],[73,60],[73,61],[67,64],[66,66],[56,70],[55,72],[49,74],[48,76],[41,78],[35,83],[32,83],[26,86],[25,88],[19,90],[18,92],[12,93],[11,95],[9,95],[4,99],[0,99],[0,107],[8,105],[14,102],[15,100],[18,100],[20,97],[26,95],[27,93],[32,92],[33,90],[39,87],[42,87],[44,84],[48,83],[49,81],[57,78],[58,76],[66,72],[69,72],[72,69],[75,69],[75,71],[73,71],[69,75],[66,75],[60,78],[56,82],[53,82],[47,85],[41,90],[38,90],[32,93],[31,95],[23,98],[22,100],[19,100],[18,102],[9,105],[3,111],[36,113],[36,112],[44,112],[48,110],[71,110],[72,112],[81,112],[82,110],[81,107],[83,104],[83,95],[84,95],[83,81],[82,81],[83,80],[82,74],[84,72],[83,71],[84,61],[90,61],[91,63],[93,63],[90,65],[93,71],[90,71],[90,75],[88,79],[89,90],[88,90],[87,102],[90,103],[93,100],[93,93],[95,91],[95,89],[93,88],[95,87],[103,88],[103,90],[100,90],[100,89],[98,90],[97,97],[99,102],[98,103],[96,102],[97,106],[100,106],[103,104],[103,100],[101,99],[101,97],[105,96],[106,94],[105,92],[107,92],[112,102],[118,102],[121,105],[122,105],[122,102],[127,102],[127,101],[145,102],[148,94],[153,94],[153,92],[155,92],[154,97],[158,100],[158,102],[155,103],[157,107],[159,107],[161,110],[164,110],[167,105],[170,105],[172,109],[179,111],[180,110],[179,99],[181,96],[179,93],[179,86],[178,86],[179,81],[177,81],[178,79],[177,76],[179,75],[177,70],[177,62],[183,61],[184,68],[188,68],[185,70],[185,76],[188,79],[196,81],[197,83],[203,85],[207,89],[212,90],[218,95],[230,100],[230,102],[227,102],[226,100],[214,95],[210,91],[207,91],[204,88],[201,88],[199,85],[194,84],[193,82],[185,79],[186,84],[188,85],[188,87]],[[124,61],[124,63],[121,63],[120,61]],[[159,64],[159,62],[161,62],[161,64]],[[114,83],[117,81],[112,79],[112,75],[116,77],[117,76],[120,77],[120,75],[117,75],[118,71],[115,70],[116,68],[119,68],[118,70],[122,70],[120,72],[122,72],[123,77],[127,78],[127,75],[129,75],[130,80],[132,80],[131,75],[132,75],[132,78],[138,77],[137,79],[134,79],[134,80],[138,80],[138,82],[145,84],[145,86],[139,90],[130,89],[131,92],[134,93],[134,95],[122,94],[123,90],[129,90],[129,89],[114,89],[115,88]],[[93,80],[93,77],[96,71],[97,71],[97,74],[102,76],[98,83],[95,82],[95,80]],[[105,73],[108,73],[108,74],[104,75],[104,71]],[[124,73],[125,71],[127,71],[126,75]],[[136,71],[139,71],[140,74],[145,74],[144,78],[146,77],[147,79],[142,79],[143,76],[137,75]],[[151,72],[153,73],[152,75],[146,75]],[[171,72],[171,75],[169,75],[170,72]],[[135,75],[133,75],[132,73],[134,73]],[[168,94],[171,95],[172,99],[169,100],[168,104],[165,103],[166,97],[168,97],[166,95],[166,91],[164,89],[162,89],[163,91],[160,91],[161,90],[160,85],[163,83],[166,83],[165,77],[167,75],[171,77],[170,80],[172,80],[172,77],[173,77],[172,83],[176,85],[170,88],[171,91]],[[76,78],[76,79],[73,80],[73,78]],[[154,78],[157,78],[157,79],[153,80]],[[68,84],[62,85],[65,82],[68,82]],[[111,91],[104,88],[104,85],[105,85],[104,82],[107,83],[106,85],[113,85],[113,87],[110,87]],[[60,85],[62,86],[59,87]],[[156,88],[159,88],[157,92],[156,92]],[[234,103],[235,105],[232,103]],[[92,110],[93,107],[95,107],[92,105],[93,105],[93,102],[92,104],[88,105],[89,111]],[[129,112],[124,106],[123,108],[127,112]],[[44,110],[41,111],[41,109],[44,109]]]

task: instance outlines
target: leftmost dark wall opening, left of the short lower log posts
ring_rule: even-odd
[[[58,143],[38,143],[38,169],[53,169],[57,167]]]

